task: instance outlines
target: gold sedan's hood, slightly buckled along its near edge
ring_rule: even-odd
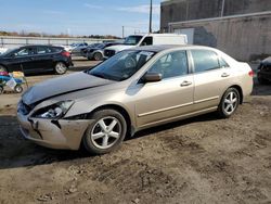
[[[98,78],[83,72],[70,74],[67,76],[46,80],[29,88],[23,94],[23,102],[27,105],[30,105],[56,95],[101,87],[113,82],[116,81]]]

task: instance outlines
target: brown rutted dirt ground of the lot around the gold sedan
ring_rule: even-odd
[[[69,73],[93,65],[75,64]],[[103,156],[25,141],[18,99],[0,95],[0,204],[271,203],[271,86],[256,82],[230,119],[207,114],[152,128]]]

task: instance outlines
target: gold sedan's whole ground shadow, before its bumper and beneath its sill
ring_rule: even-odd
[[[215,114],[170,123],[155,128],[150,128],[136,133],[127,140],[152,136],[182,125],[196,122],[218,119]],[[57,162],[83,160],[91,156],[82,148],[79,151],[51,150],[25,140],[20,130],[15,116],[0,116],[0,169],[33,167],[37,165],[53,164]]]

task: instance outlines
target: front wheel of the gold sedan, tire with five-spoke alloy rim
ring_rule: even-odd
[[[105,154],[120,146],[127,132],[127,123],[119,112],[101,110],[93,113],[90,119],[94,122],[82,138],[83,146],[89,153]]]

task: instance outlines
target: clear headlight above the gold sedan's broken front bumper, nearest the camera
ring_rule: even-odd
[[[73,104],[74,101],[61,101],[48,107],[38,110],[37,112],[34,113],[33,117],[52,118],[52,119],[59,118],[64,116]]]

